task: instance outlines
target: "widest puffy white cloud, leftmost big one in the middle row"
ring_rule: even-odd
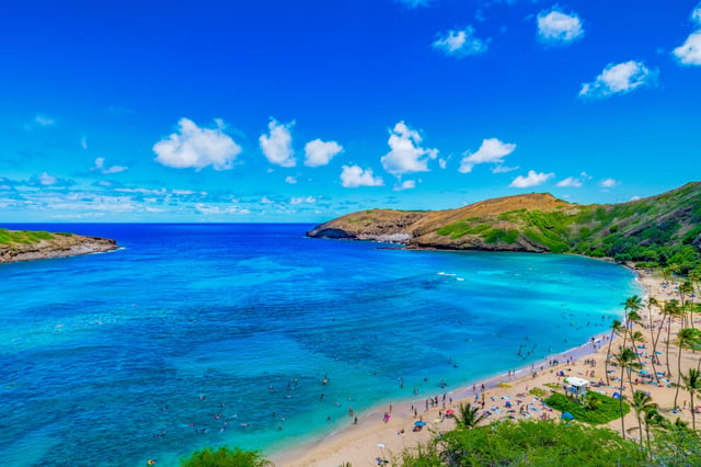
[[[177,133],[153,145],[156,160],[175,169],[200,170],[207,166],[215,170],[231,169],[241,147],[223,133],[221,119],[215,123],[216,128],[200,128],[192,119],[181,118]]]

